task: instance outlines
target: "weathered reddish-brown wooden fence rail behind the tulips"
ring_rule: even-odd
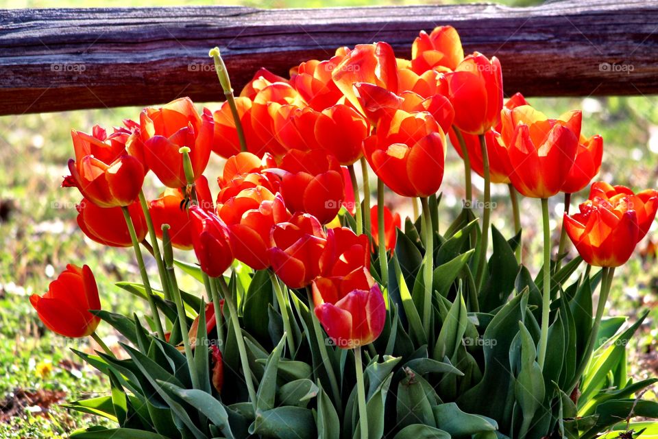
[[[507,94],[658,92],[658,1],[570,0],[257,10],[242,7],[0,10],[0,114],[222,98],[208,49],[239,90],[260,67],[286,75],[339,46],[383,40],[411,56],[450,24],[465,51],[498,56]]]

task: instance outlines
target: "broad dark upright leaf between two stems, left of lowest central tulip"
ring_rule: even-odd
[[[245,306],[243,311],[243,324],[245,330],[254,337],[267,339],[267,325],[263,322],[269,321],[267,307],[272,303],[273,286],[268,270],[258,270],[245,294]]]

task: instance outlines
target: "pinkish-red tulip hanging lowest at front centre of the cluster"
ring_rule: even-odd
[[[374,342],[386,320],[379,285],[345,291],[329,278],[313,283],[315,316],[336,346],[352,349]]]

